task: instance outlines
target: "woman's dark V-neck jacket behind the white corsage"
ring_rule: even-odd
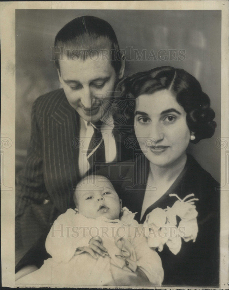
[[[166,245],[162,252],[158,252],[164,269],[163,285],[219,285],[219,183],[191,155],[188,155],[184,170],[173,185],[154,204],[149,204],[141,221],[140,214],[149,173],[149,162],[144,155],[139,154],[133,162],[107,166],[98,173],[113,182],[123,206],[132,212],[138,212],[135,219],[141,223],[153,209],[165,209],[174,204],[177,199],[170,197],[170,193],[176,193],[181,199],[194,193],[195,198],[199,199],[195,203],[199,228],[197,239],[194,243],[184,242],[182,239],[182,247],[177,255]]]

